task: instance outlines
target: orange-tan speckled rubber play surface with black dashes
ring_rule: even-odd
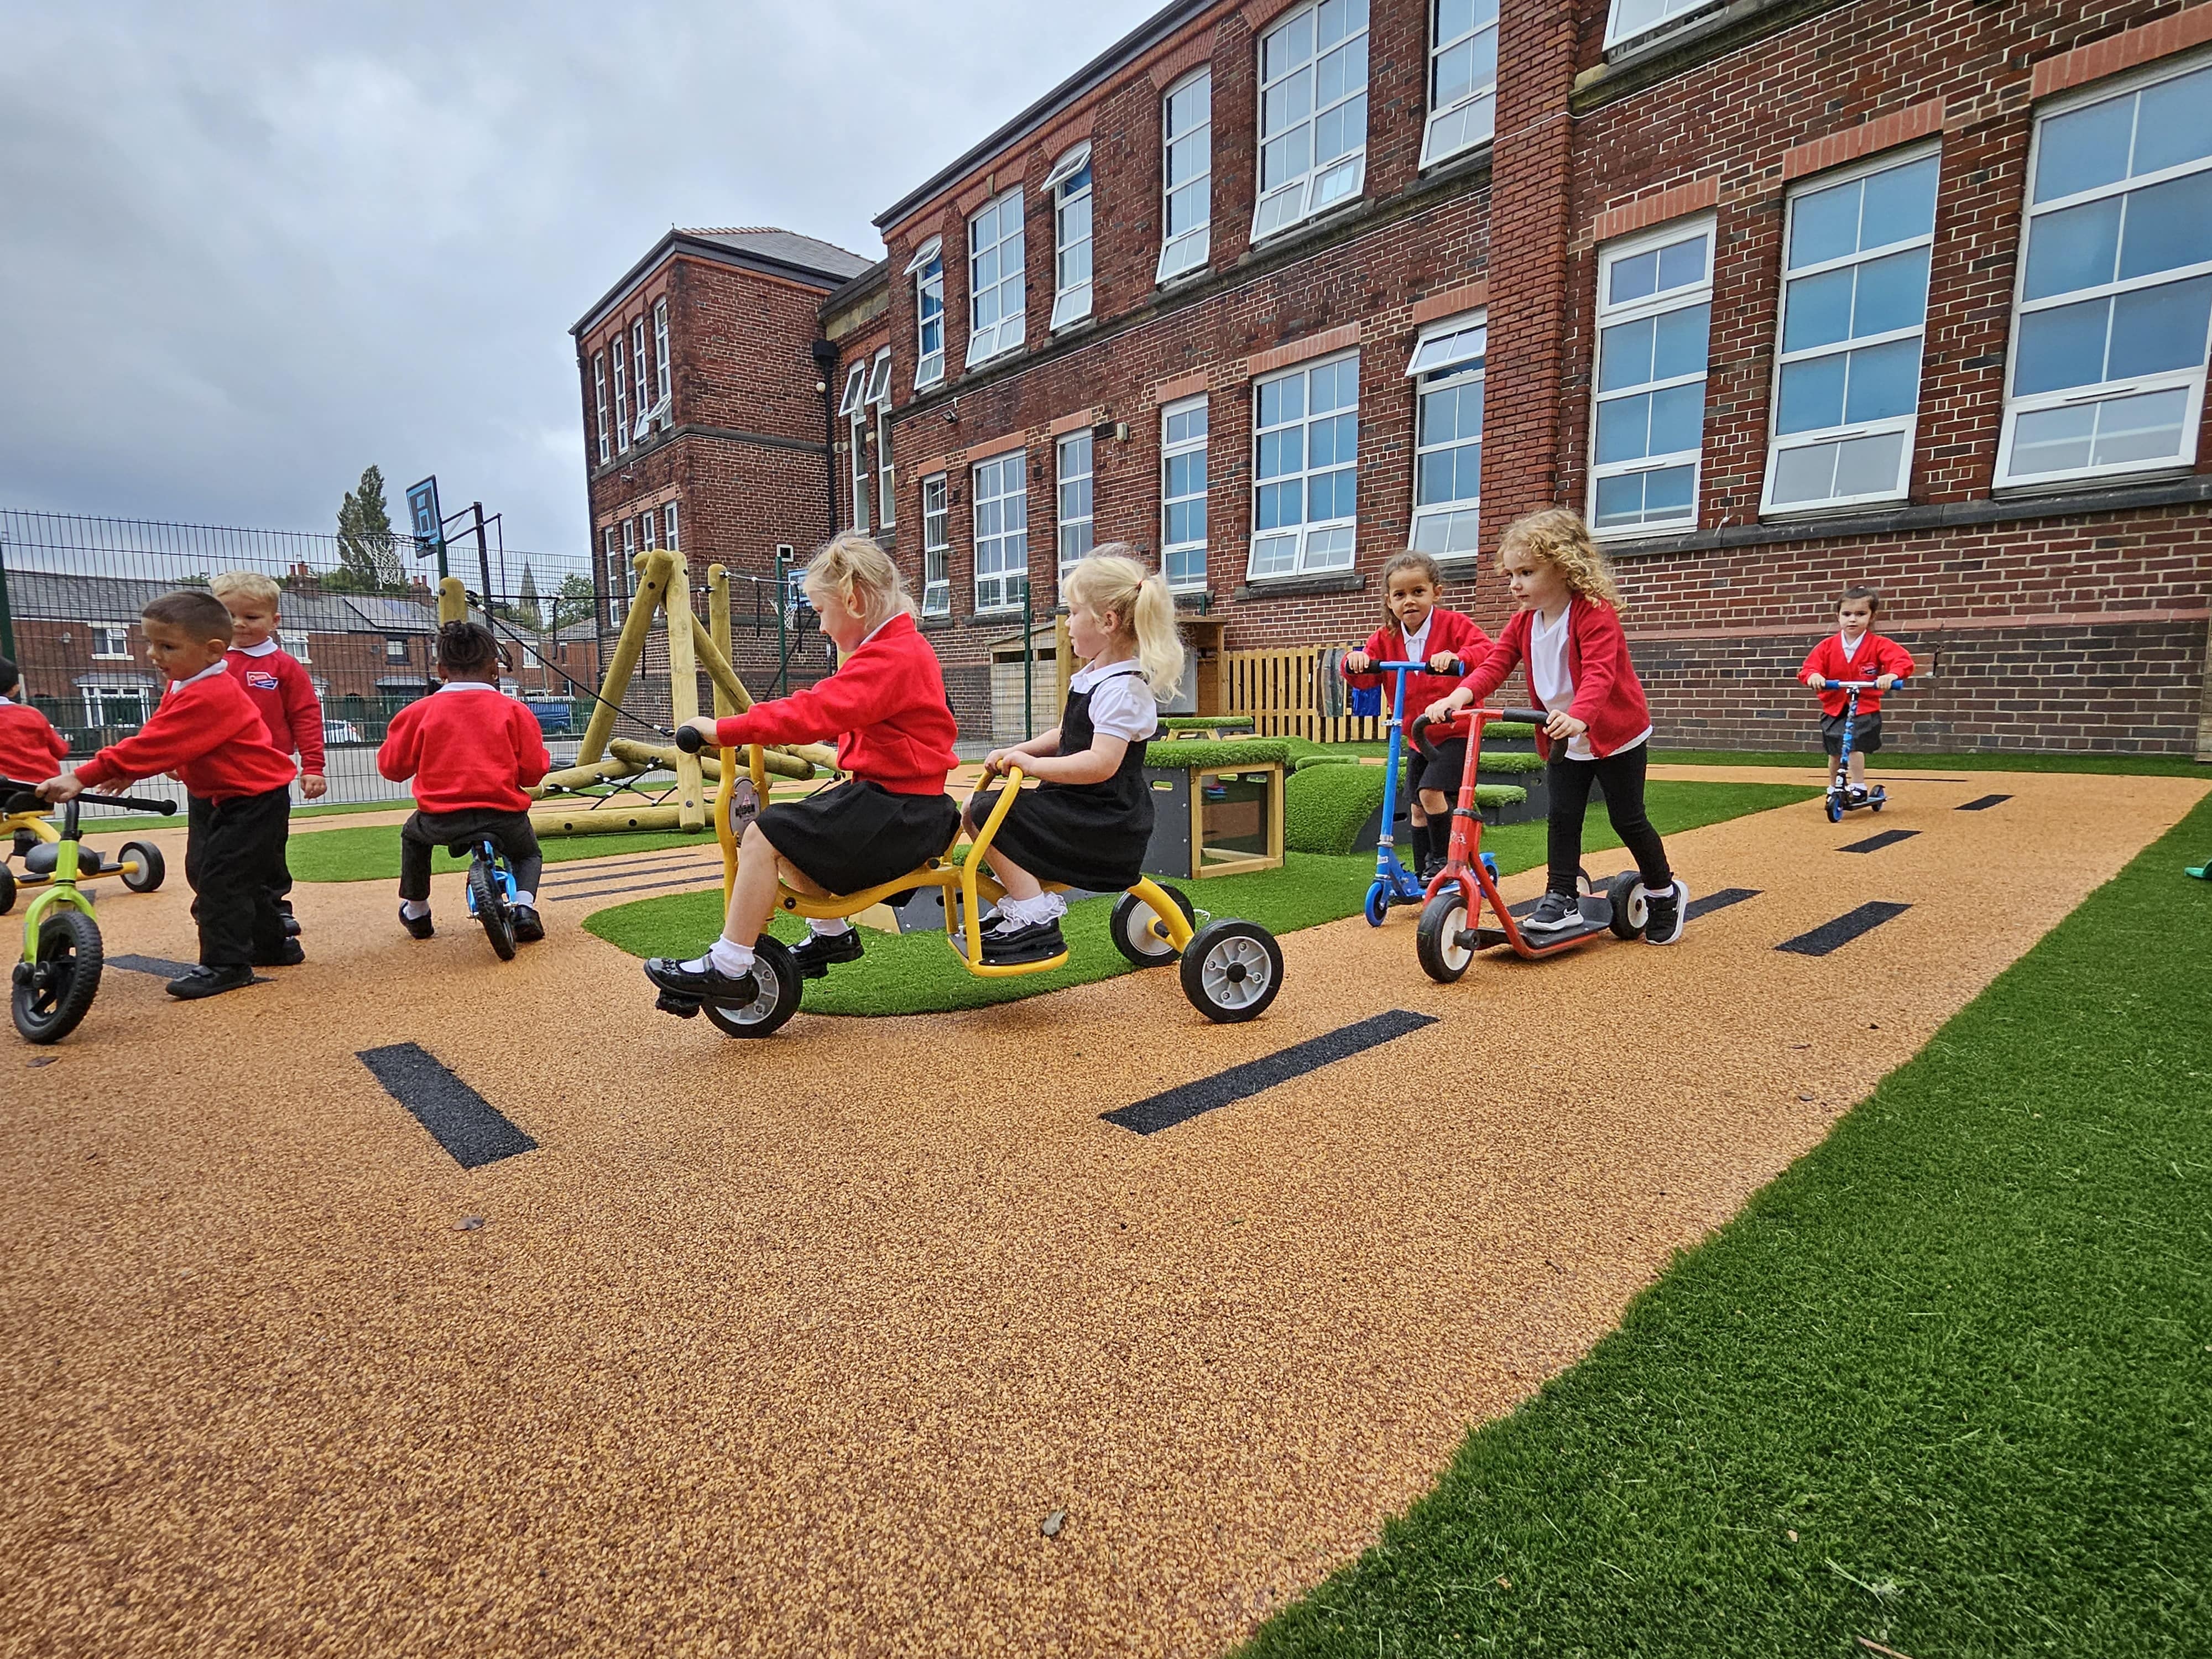
[[[593,902],[502,967],[458,876],[420,945],[303,887],[305,967],[0,1057],[0,1652],[1219,1652],[2203,794],[2006,783],[1679,836],[1670,951],[1292,933],[1248,1026],[1144,973],[732,1042]],[[181,887],[102,925],[192,956]],[[405,1044],[535,1148],[462,1168]]]

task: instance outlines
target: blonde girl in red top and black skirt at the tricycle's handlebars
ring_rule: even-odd
[[[739,843],[737,880],[721,938],[703,956],[657,956],[646,978],[690,1002],[750,1002],[759,995],[752,947],[776,905],[776,880],[825,898],[858,894],[940,856],[960,832],[945,794],[953,770],[953,710],[938,653],[914,628],[914,602],[898,566],[865,535],[834,538],[807,562],[807,602],[838,650],[838,668],[807,690],[754,703],[730,719],[697,719],[708,743],[818,743],[836,739],[838,770],[852,776],[805,801],[761,812]],[[823,978],[860,956],[847,920],[812,920],[792,962]]]

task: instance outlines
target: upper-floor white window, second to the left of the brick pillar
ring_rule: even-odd
[[[1252,241],[1367,184],[1367,0],[1321,0],[1259,40]]]

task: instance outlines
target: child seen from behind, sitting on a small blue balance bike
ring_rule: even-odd
[[[526,790],[553,759],[538,717],[500,690],[500,644],[480,622],[438,628],[438,686],[392,717],[376,770],[414,779],[416,810],[400,825],[400,927],[431,938],[429,856],[438,847],[491,838],[515,872],[515,940],[546,936],[538,918],[544,856]]]

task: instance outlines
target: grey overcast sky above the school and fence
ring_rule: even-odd
[[[0,0],[0,507],[582,551],[568,327],[670,223],[874,215],[1161,0]]]

